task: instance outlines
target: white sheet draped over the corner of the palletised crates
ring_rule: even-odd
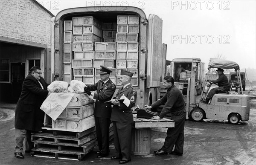
[[[40,109],[43,110],[53,120],[67,107],[75,93],[51,93],[43,102]]]

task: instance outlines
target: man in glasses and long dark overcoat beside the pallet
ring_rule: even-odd
[[[15,111],[15,156],[23,159],[23,140],[26,136],[26,153],[33,148],[31,133],[41,131],[44,111],[41,104],[49,95],[48,84],[41,77],[40,67],[32,67],[22,84],[20,98]]]

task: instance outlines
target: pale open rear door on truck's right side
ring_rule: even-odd
[[[150,14],[148,18],[147,88],[160,87],[163,66],[162,25],[163,20]]]

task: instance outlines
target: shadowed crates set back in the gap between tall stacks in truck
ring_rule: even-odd
[[[103,23],[103,42],[116,42],[116,22]]]

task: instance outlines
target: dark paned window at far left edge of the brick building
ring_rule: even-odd
[[[10,83],[10,60],[0,59],[0,82]]]

